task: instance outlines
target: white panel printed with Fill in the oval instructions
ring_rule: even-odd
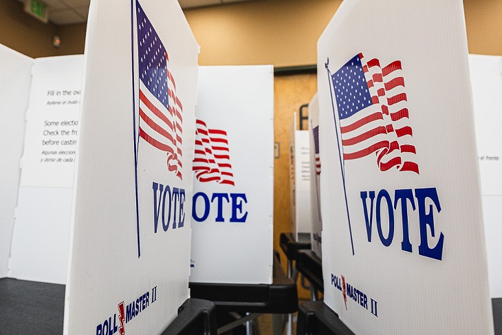
[[[34,60],[10,277],[66,283],[82,70],[81,55]]]

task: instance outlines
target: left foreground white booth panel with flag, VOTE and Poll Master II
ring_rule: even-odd
[[[158,334],[188,298],[198,51],[175,0],[91,1],[65,334]]]

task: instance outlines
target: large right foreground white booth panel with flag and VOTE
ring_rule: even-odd
[[[356,334],[493,334],[462,2],[344,1],[318,95],[325,303]]]

